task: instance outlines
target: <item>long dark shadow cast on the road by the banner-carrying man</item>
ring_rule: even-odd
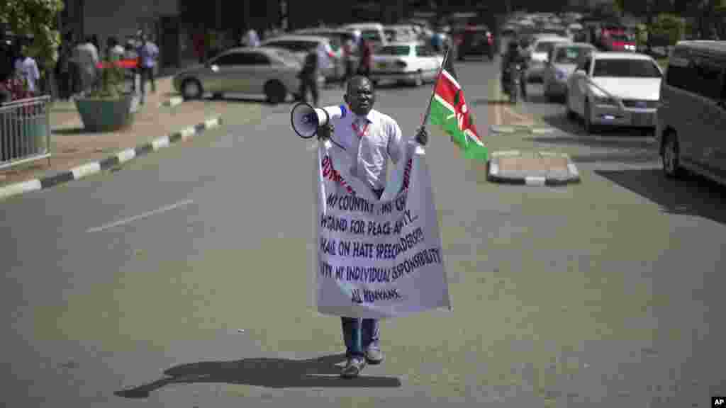
[[[114,394],[124,398],[143,399],[148,398],[152,391],[166,385],[192,383],[245,384],[268,388],[401,386],[401,380],[394,377],[340,378],[340,367],[335,364],[343,362],[344,359],[345,354],[334,354],[306,360],[258,358],[181,364],[165,370],[164,377],[153,383],[116,391]]]

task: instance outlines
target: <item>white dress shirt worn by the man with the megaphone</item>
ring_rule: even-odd
[[[351,126],[360,123],[359,131],[368,124],[364,136]],[[396,164],[404,155],[404,141],[401,128],[388,115],[370,110],[368,115],[359,117],[354,113],[338,119],[334,123],[333,139],[346,148],[350,155],[356,155],[351,175],[364,181],[371,189],[380,190],[386,187],[388,175],[388,158]]]

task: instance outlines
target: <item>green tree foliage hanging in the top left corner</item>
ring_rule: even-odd
[[[17,36],[33,38],[28,54],[47,73],[58,60],[57,18],[63,7],[62,0],[0,0],[0,23]]]

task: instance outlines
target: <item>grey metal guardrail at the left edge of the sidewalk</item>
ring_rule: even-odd
[[[50,96],[0,105],[0,169],[50,158]]]

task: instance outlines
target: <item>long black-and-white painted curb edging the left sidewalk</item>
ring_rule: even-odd
[[[171,144],[176,142],[190,139],[192,136],[201,134],[205,130],[220,126],[221,123],[221,116],[217,116],[216,118],[208,119],[202,123],[197,123],[195,126],[189,126],[181,131],[176,131],[168,136],[153,139],[149,143],[139,144],[136,147],[121,150],[121,152],[117,152],[115,155],[108,156],[103,160],[86,163],[81,166],[71,168],[68,171],[61,171],[60,173],[52,176],[46,176],[41,179],[33,179],[0,187],[0,200],[14,195],[20,195],[25,192],[49,189],[50,187],[65,184],[68,181],[83,179],[83,177],[108,170],[109,168],[118,166],[121,163],[126,163],[134,158],[147,155],[150,152],[155,152],[163,149],[164,147],[169,147]]]

